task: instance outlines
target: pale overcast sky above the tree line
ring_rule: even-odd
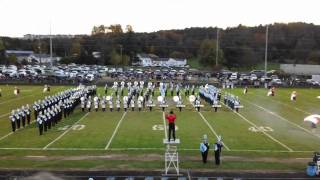
[[[90,34],[94,25],[136,32],[274,22],[320,24],[319,0],[0,0],[0,36]]]

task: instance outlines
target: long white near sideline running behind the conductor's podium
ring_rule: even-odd
[[[33,150],[33,151],[152,151],[164,150],[165,148],[0,148],[0,150]],[[199,149],[182,148],[181,151],[199,151]],[[262,149],[232,149],[230,152],[266,152],[266,153],[312,153],[314,151],[285,151],[285,150],[262,150]]]

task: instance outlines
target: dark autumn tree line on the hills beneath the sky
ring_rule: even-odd
[[[194,59],[211,68],[216,63],[232,68],[264,62],[266,26],[219,29],[218,39],[217,31],[216,27],[194,27],[140,33],[130,25],[124,29],[120,24],[99,25],[92,28],[91,35],[53,39],[53,52],[63,57],[64,63],[79,64],[129,65],[135,62],[137,53]],[[1,37],[0,63],[8,63],[6,49],[49,53],[49,39],[39,43],[37,39]],[[93,52],[101,56],[94,57]],[[320,26],[301,22],[269,25],[268,61],[320,64]]]

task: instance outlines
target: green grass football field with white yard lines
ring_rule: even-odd
[[[39,136],[35,123],[11,133],[8,119],[13,108],[49,94],[43,86],[0,86],[0,168],[43,169],[162,169],[166,137],[164,113],[156,108],[143,112],[75,112],[53,129]],[[54,94],[67,86],[53,86]],[[298,92],[296,102],[289,97]],[[314,151],[320,151],[320,130],[311,131],[303,122],[309,114],[319,113],[318,89],[277,89],[267,97],[266,89],[226,90],[240,97],[244,108],[239,113],[223,105],[218,112],[206,103],[197,112],[185,99],[187,107],[177,114],[177,137],[181,168],[221,170],[304,171]],[[99,87],[98,93],[103,93]],[[109,90],[110,93],[110,90]],[[157,95],[156,95],[157,96]],[[169,97],[169,104],[173,104]],[[203,101],[204,102],[204,101]],[[203,134],[209,142],[216,135],[223,138],[222,165],[203,165],[199,143]],[[212,146],[211,146],[212,150]],[[213,152],[209,154],[213,162]]]

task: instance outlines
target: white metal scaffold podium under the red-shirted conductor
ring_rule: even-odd
[[[179,171],[179,154],[178,154],[178,145],[180,144],[180,139],[175,141],[168,141],[168,139],[163,139],[163,144],[166,146],[166,152],[164,154],[165,161],[165,174],[172,176],[180,176]],[[174,172],[169,174],[168,172]]]

